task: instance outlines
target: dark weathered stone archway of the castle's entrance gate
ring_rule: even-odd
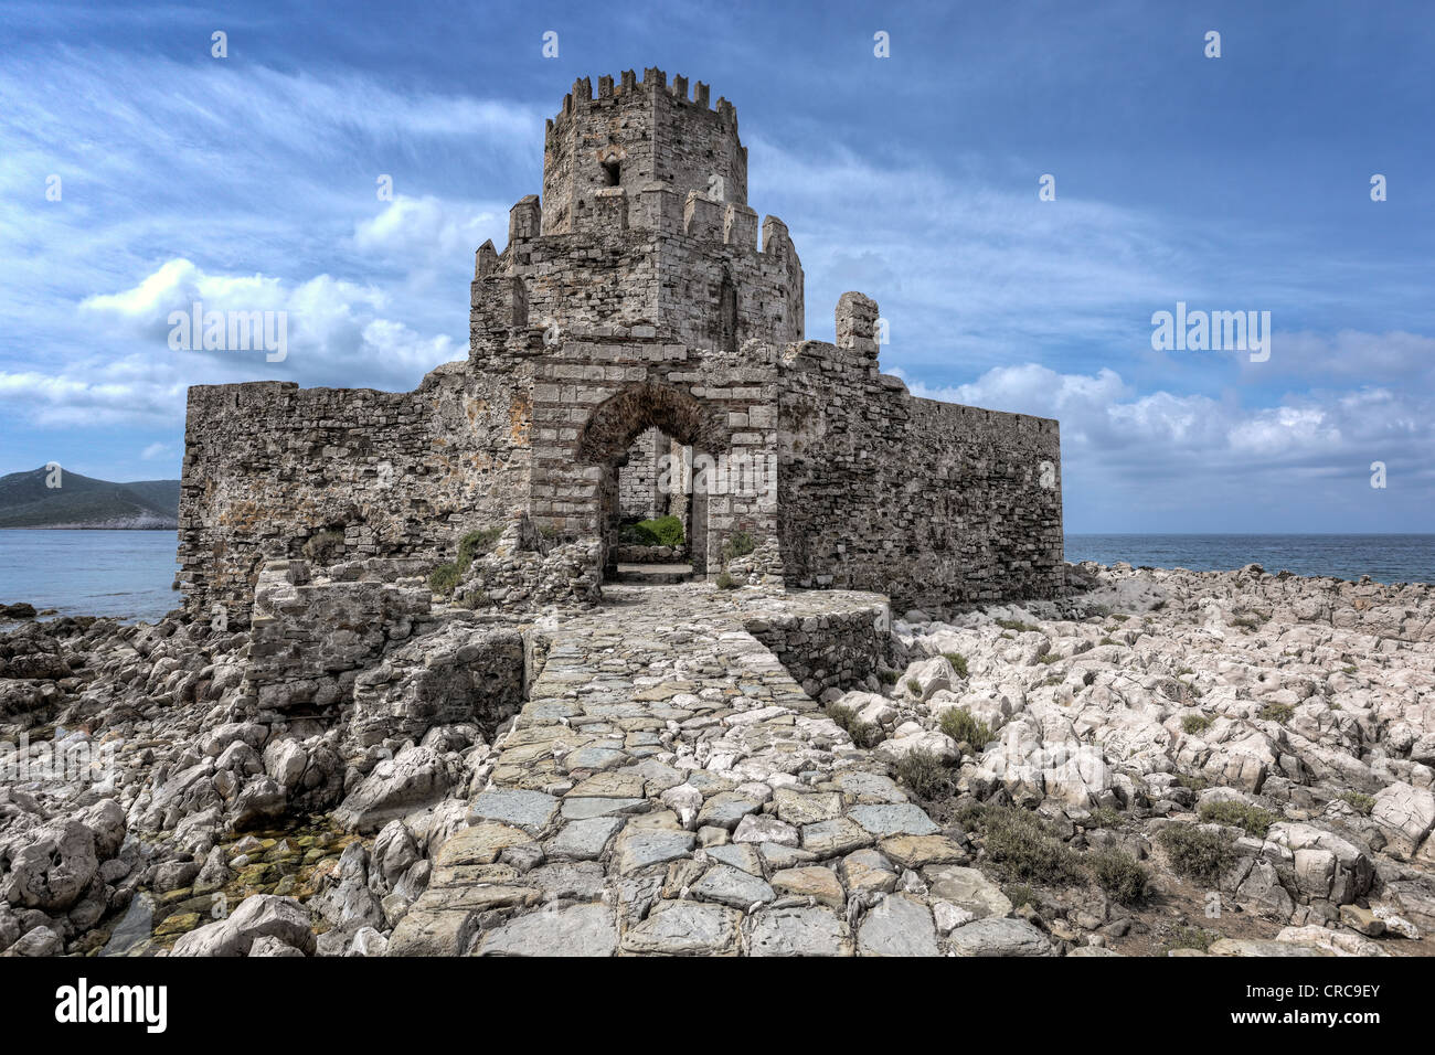
[[[578,433],[575,455],[581,465],[597,466],[597,522],[603,540],[604,564],[618,522],[618,471],[627,462],[633,442],[649,429],[657,429],[674,444],[689,448],[693,456],[715,458],[729,446],[726,415],[705,405],[682,389],[656,382],[630,385],[593,408]],[[686,508],[687,545],[693,571],[709,571],[709,502],[702,481],[689,485]]]

